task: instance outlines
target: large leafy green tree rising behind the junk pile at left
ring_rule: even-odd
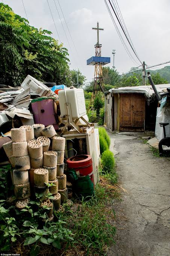
[[[0,3],[0,83],[20,85],[30,74],[42,82],[70,86],[68,51],[51,34]]]

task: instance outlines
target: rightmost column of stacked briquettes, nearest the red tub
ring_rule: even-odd
[[[66,175],[64,174],[65,138],[54,136],[52,139],[52,150],[57,153],[58,193],[61,194],[61,203],[64,203],[68,199]]]

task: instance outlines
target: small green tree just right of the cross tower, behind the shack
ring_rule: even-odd
[[[118,74],[116,69],[110,67],[103,67],[102,71],[105,85],[112,85],[113,87],[120,80],[120,75]]]

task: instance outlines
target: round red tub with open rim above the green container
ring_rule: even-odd
[[[93,162],[89,155],[78,155],[67,159],[67,166],[70,169],[79,171],[80,176],[89,176],[94,184]]]

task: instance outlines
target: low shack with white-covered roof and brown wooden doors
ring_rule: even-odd
[[[158,93],[170,84],[156,85]],[[158,100],[151,85],[113,88],[105,93],[105,120],[114,131],[155,131]]]

